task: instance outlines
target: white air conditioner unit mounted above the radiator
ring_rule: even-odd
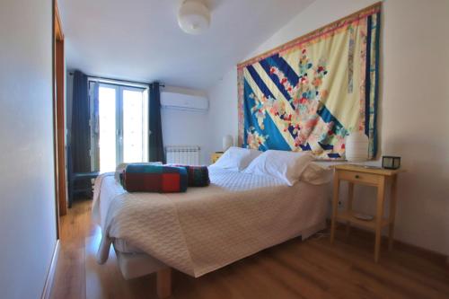
[[[163,109],[207,111],[209,101],[206,97],[177,92],[161,92],[161,107]]]

